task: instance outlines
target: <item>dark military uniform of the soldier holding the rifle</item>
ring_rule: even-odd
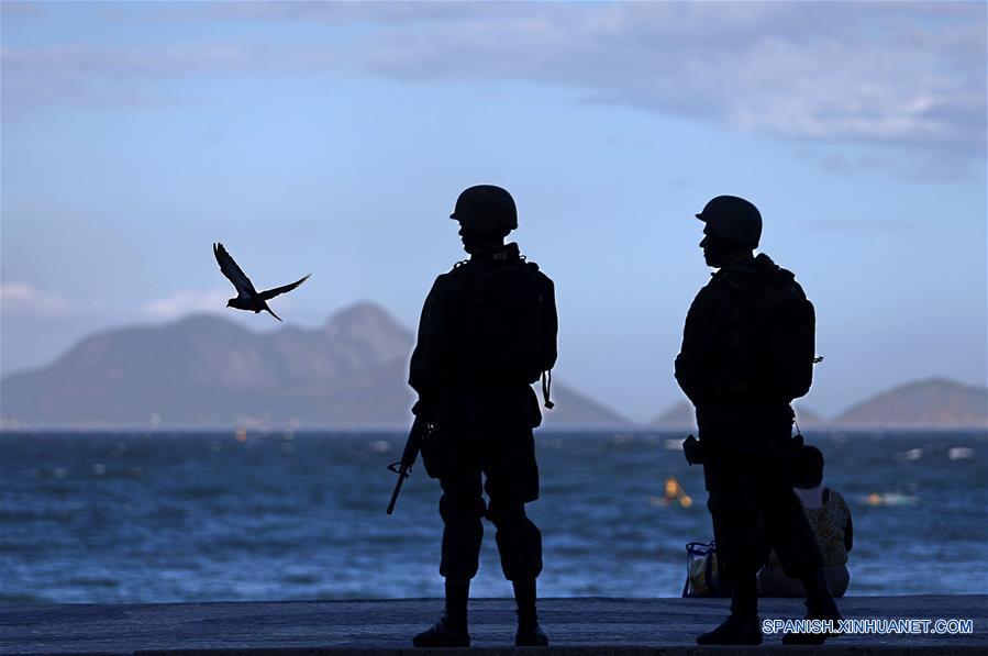
[[[542,571],[542,535],[524,504],[539,498],[539,468],[532,429],[542,414],[530,380],[498,379],[475,365],[470,344],[470,297],[479,276],[504,267],[526,267],[542,289],[543,334],[549,368],[555,362],[556,309],[552,281],[525,263],[517,244],[474,255],[439,276],[425,299],[412,354],[409,385],[419,393],[417,416],[436,431],[422,447],[430,476],[443,488],[444,522],[440,572],[448,578],[477,574],[482,518],[496,526],[504,576],[534,579]],[[486,482],[482,482],[486,477]],[[485,502],[484,492],[489,502]]]

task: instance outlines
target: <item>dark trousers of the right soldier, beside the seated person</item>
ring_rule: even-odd
[[[757,571],[768,549],[775,548],[787,576],[806,580],[822,570],[820,546],[792,491],[785,456],[735,454],[710,466],[708,508],[718,554],[731,578],[731,613],[753,616],[758,603]],[[828,600],[811,601],[832,603],[825,594]]]

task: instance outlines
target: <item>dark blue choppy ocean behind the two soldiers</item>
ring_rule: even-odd
[[[536,433],[543,597],[677,597],[712,537],[669,432]],[[442,596],[439,483],[385,514],[398,433],[0,433],[0,602]],[[848,594],[988,593],[988,435],[820,432]],[[508,597],[486,524],[471,594]]]

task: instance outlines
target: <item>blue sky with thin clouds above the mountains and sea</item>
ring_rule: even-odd
[[[0,368],[225,309],[221,241],[315,327],[415,326],[457,194],[514,196],[555,377],[635,421],[684,397],[693,218],[762,211],[818,314],[802,405],[986,385],[983,2],[21,3],[0,59]]]

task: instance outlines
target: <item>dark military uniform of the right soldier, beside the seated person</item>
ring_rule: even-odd
[[[753,375],[745,357],[752,345],[739,331],[745,304],[780,282],[806,298],[792,274],[765,254],[724,265],[693,300],[676,358],[676,379],[697,409],[708,507],[736,616],[757,613],[755,577],[769,547],[793,578],[822,566],[792,491],[790,399]]]

